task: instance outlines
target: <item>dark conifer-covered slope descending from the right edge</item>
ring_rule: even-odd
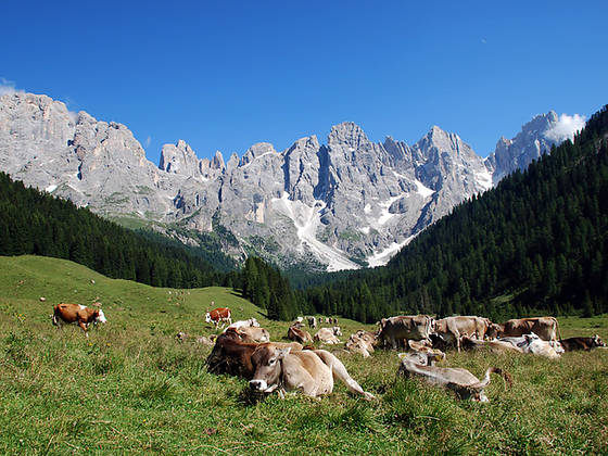
[[[387,267],[307,290],[321,313],[608,312],[608,111],[574,142],[455,207]]]

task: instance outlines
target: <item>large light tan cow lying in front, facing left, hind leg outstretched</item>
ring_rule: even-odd
[[[342,380],[353,393],[366,400],[376,398],[349,375],[340,359],[325,350],[292,352],[271,345],[261,345],[252,357],[255,373],[250,387],[262,393],[278,391],[284,397],[287,391],[301,391],[317,397],[333,391],[335,379]]]

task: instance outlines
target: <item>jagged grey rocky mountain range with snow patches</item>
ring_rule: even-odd
[[[220,236],[226,253],[282,267],[379,266],[464,200],[528,166],[567,135],[560,117],[535,116],[486,159],[433,126],[413,145],[370,141],[356,124],[276,151],[253,144],[225,161],[200,160],[183,140],[159,165],[122,124],[71,112],[49,97],[0,97],[0,169],[13,179],[119,220],[137,220],[183,242]]]

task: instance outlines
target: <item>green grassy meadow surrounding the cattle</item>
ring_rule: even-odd
[[[46,302],[40,301],[46,297]],[[271,322],[231,290],[155,289],[112,280],[66,261],[0,257],[0,454],[607,454],[608,351],[532,355],[448,353],[446,365],[494,376],[489,404],[463,402],[418,380],[395,377],[395,352],[371,358],[330,347],[366,391],[338,384],[321,400],[276,395],[255,402],[246,381],[208,373],[211,306],[233,319]],[[102,303],[107,324],[87,339],[51,325],[52,305]],[[562,337],[598,333],[608,317],[560,318]],[[341,319],[347,335],[359,328]],[[371,329],[371,327],[367,327]],[[178,342],[175,334],[191,335]]]

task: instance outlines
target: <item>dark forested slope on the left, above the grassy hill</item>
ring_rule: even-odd
[[[0,214],[0,255],[66,258],[111,278],[156,287],[231,286],[238,280],[236,273],[218,273],[194,249],[123,228],[69,201],[25,188],[3,173]]]

